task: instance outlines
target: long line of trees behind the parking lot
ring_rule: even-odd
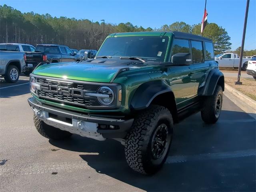
[[[103,26],[104,25],[104,26]],[[22,13],[10,6],[0,6],[0,42],[26,44],[63,44],[74,49],[96,49],[100,47],[108,34],[115,32],[138,31],[181,31],[200,35],[201,24],[189,25],[174,22],[161,28],[143,28],[132,23],[111,24],[88,19],[52,17],[50,14]],[[216,54],[230,50],[230,36],[224,28],[209,23],[204,36],[214,42]]]

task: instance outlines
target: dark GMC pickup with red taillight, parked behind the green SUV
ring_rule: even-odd
[[[26,52],[25,74],[29,75],[41,62],[60,63],[77,61],[75,53],[68,46],[38,44],[35,52]]]

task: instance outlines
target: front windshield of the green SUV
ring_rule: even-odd
[[[146,61],[164,61],[168,40],[167,36],[109,37],[97,57],[138,57]]]

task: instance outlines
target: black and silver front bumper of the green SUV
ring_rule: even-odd
[[[130,130],[134,119],[116,119],[80,114],[61,108],[56,108],[38,102],[34,97],[28,98],[28,104],[34,110],[36,116],[46,124],[81,136],[105,140],[106,138],[124,138]],[[115,129],[102,129],[114,126]]]

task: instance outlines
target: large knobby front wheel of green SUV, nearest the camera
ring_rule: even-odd
[[[130,168],[143,174],[157,172],[166,161],[172,142],[170,111],[152,105],[135,119],[126,138],[125,156]]]

